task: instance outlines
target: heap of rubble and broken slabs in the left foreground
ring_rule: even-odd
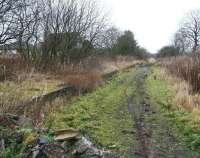
[[[31,120],[14,115],[0,115],[0,124],[8,129],[0,133],[0,153],[8,146],[9,139],[16,144],[25,143],[22,158],[119,158],[110,151],[98,149],[76,129],[51,130],[51,140],[45,137],[49,129],[35,129]],[[24,130],[17,130],[22,127]],[[25,130],[26,129],[26,130]],[[29,129],[29,130],[27,130]],[[9,132],[8,132],[9,131]],[[29,136],[25,134],[29,131]],[[30,140],[24,140],[31,138]],[[29,138],[29,139],[30,139]]]

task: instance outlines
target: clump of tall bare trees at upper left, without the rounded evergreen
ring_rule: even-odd
[[[63,62],[96,47],[107,19],[96,0],[0,0],[0,18],[0,44],[13,40],[24,59]]]

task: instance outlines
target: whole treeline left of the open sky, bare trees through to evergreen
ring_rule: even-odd
[[[70,62],[93,54],[148,56],[131,31],[108,25],[95,0],[0,0],[0,49],[28,61]]]

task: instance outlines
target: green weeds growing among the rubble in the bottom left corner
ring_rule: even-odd
[[[22,158],[30,147],[34,147],[38,138],[45,138],[49,143],[54,141],[53,133],[39,134],[33,129],[13,129],[0,125],[0,138],[5,140],[5,150],[0,151],[1,158]]]

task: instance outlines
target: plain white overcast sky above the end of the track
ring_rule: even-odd
[[[120,29],[134,32],[139,44],[156,53],[170,44],[180,20],[200,0],[102,0]]]

